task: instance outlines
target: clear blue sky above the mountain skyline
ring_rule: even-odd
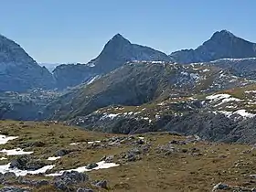
[[[6,0],[0,33],[37,62],[87,62],[116,33],[169,54],[228,29],[256,42],[255,0]]]

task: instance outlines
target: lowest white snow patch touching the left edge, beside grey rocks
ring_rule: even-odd
[[[11,173],[15,173],[16,176],[27,176],[27,174],[32,174],[32,175],[43,174],[43,173],[46,173],[48,169],[52,169],[54,167],[54,165],[46,165],[35,171],[27,171],[27,170],[20,170],[17,168],[12,169],[10,168],[10,165],[11,165],[10,163],[7,165],[0,165],[0,173],[5,174],[8,172],[11,172]]]

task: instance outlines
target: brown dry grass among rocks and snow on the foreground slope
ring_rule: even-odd
[[[56,167],[53,171],[98,162],[103,155],[119,155],[133,147],[131,144],[122,144],[119,147],[93,150],[87,149],[88,144],[70,146],[69,144],[73,142],[103,140],[111,137],[112,134],[85,132],[61,124],[0,122],[0,127],[2,133],[20,135],[19,139],[1,146],[2,148],[14,148],[27,141],[42,141],[46,146],[31,149],[35,151],[31,156],[40,159],[52,156],[60,148],[77,150],[54,162]],[[89,173],[91,179],[106,179],[109,182],[109,191],[115,192],[210,191],[213,185],[219,182],[244,187],[255,186],[252,182],[249,183],[251,180],[249,175],[256,173],[256,152],[242,153],[251,149],[249,145],[208,142],[175,145],[176,148],[188,151],[196,147],[202,155],[177,152],[165,156],[156,153],[155,148],[159,144],[167,144],[173,139],[184,140],[185,137],[167,133],[144,134],[144,137],[152,147],[148,154],[142,156],[142,160],[110,169],[91,171]],[[241,162],[240,165],[235,166],[238,161]],[[35,191],[54,190],[53,187],[48,186]]]

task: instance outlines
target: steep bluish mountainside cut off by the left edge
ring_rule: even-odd
[[[48,69],[40,67],[16,42],[0,36],[0,91],[53,87]]]

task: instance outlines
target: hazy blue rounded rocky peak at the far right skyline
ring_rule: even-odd
[[[228,30],[215,32],[196,49],[173,52],[170,57],[178,63],[208,62],[216,59],[245,59],[256,57],[256,44],[236,37]]]

